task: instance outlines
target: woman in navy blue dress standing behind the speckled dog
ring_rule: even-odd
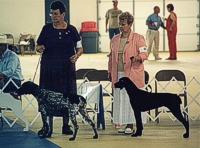
[[[76,28],[64,21],[65,5],[54,1],[50,6],[52,23],[43,26],[36,50],[42,53],[40,87],[63,94],[77,93],[75,62],[83,48]],[[63,116],[63,134],[73,134],[68,122],[68,111],[49,112],[50,116]],[[53,118],[49,118],[53,127]]]

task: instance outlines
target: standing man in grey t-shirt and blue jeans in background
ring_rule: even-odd
[[[113,8],[109,9],[106,12],[106,33],[109,32],[110,40],[113,38],[114,35],[119,34],[119,26],[118,26],[118,16],[122,13],[120,9],[118,9],[118,1],[112,0]],[[109,25],[109,26],[108,26]]]

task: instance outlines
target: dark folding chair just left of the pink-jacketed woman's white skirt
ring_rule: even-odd
[[[108,91],[108,86],[110,85],[110,81],[108,79],[108,71],[107,70],[91,70],[88,71],[85,75],[85,77],[88,79],[89,82],[98,82],[101,83],[105,82],[104,86],[102,86],[103,89],[103,97],[107,96],[111,98],[111,101],[108,103],[107,106],[104,107],[104,112],[111,118],[111,121],[113,120],[113,92]],[[111,110],[108,110],[108,108],[111,107]],[[108,114],[110,113],[110,115]]]

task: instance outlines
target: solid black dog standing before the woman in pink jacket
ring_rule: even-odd
[[[184,125],[186,133],[183,134],[183,137],[189,137],[189,123],[181,114],[181,99],[178,95],[170,93],[149,93],[142,91],[138,89],[136,85],[127,77],[119,79],[119,81],[115,83],[115,87],[120,89],[125,88],[129,95],[130,103],[134,110],[137,127],[137,131],[131,135],[132,137],[142,135],[143,125],[141,112],[162,106],[167,107],[172,112],[172,114]]]

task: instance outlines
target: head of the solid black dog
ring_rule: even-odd
[[[122,77],[119,79],[118,82],[116,82],[115,84],[115,88],[137,88],[137,86],[128,78],[128,77]]]

